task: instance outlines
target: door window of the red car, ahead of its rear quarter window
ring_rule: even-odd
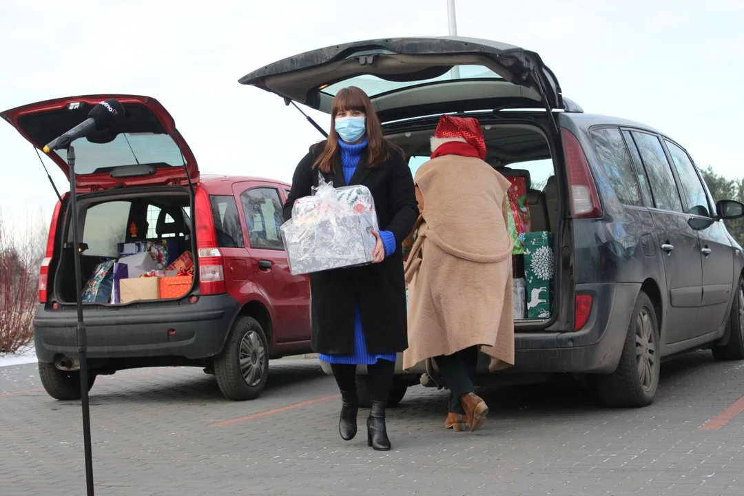
[[[279,228],[282,225],[282,204],[279,190],[257,187],[240,195],[251,248],[283,250]]]

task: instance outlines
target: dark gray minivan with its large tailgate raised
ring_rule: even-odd
[[[722,222],[744,205],[713,202],[667,135],[583,112],[538,54],[462,37],[376,39],[289,57],[240,83],[321,112],[339,89],[362,88],[412,170],[440,115],[480,120],[487,161],[525,178],[530,230],[554,239],[550,316],[516,320],[516,364],[489,374],[484,357],[481,384],[569,373],[608,405],[644,406],[663,358],[709,347],[744,359],[743,250]],[[432,361],[401,362],[391,404],[418,382],[443,385]]]

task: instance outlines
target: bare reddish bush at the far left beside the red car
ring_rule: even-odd
[[[0,216],[0,352],[16,352],[33,340],[47,232],[38,219],[13,225]]]

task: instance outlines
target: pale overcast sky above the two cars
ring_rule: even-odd
[[[458,34],[538,52],[586,112],[661,129],[701,167],[744,176],[744,0],[457,0]],[[237,83],[313,48],[447,34],[446,0],[2,0],[0,109],[74,94],[155,97],[202,173],[289,181],[321,138],[296,109]],[[327,129],[329,118],[311,115]],[[0,123],[0,208],[16,228],[56,198]],[[48,161],[60,190],[65,177]]]

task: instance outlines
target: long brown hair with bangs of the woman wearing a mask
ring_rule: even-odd
[[[356,86],[343,88],[336,93],[333,103],[330,106],[330,133],[325,142],[323,152],[315,159],[312,164],[313,169],[320,169],[322,173],[327,174],[333,170],[333,161],[336,153],[339,151],[339,135],[336,133],[336,114],[341,111],[359,111],[364,112],[365,119],[365,136],[367,137],[368,161],[367,167],[379,167],[388,160],[390,156],[391,145],[385,138],[382,138],[382,126],[379,123],[379,117],[374,111],[370,97]],[[320,144],[318,144],[320,146]]]

